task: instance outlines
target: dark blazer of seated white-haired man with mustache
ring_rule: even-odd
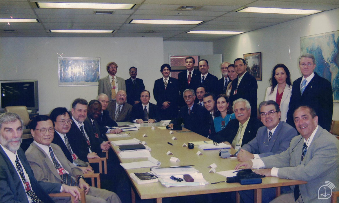
[[[239,121],[237,119],[231,119],[224,129],[217,132],[213,139],[210,139],[219,143],[227,141],[232,144],[234,137],[237,135],[239,126]],[[259,121],[257,117],[251,116],[245,128],[241,146],[253,140],[261,126],[263,126],[262,122]]]

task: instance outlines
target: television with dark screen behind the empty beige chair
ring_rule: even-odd
[[[28,113],[39,111],[38,80],[0,80],[0,111],[6,106],[26,106]]]

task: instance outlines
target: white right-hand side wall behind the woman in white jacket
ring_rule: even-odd
[[[292,82],[301,77],[298,68],[300,37],[339,30],[339,8],[298,18],[260,30],[213,42],[213,54],[223,54],[223,61],[233,62],[243,54],[261,52],[262,81],[258,81],[258,104],[265,97],[273,67],[284,63]],[[334,103],[333,119],[339,120],[339,103]]]

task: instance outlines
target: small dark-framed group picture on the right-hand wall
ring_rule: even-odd
[[[246,71],[253,75],[255,79],[261,80],[261,52],[244,54]]]

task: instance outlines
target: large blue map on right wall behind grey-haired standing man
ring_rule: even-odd
[[[314,55],[314,72],[331,82],[333,101],[339,102],[339,31],[300,37],[300,50]]]

